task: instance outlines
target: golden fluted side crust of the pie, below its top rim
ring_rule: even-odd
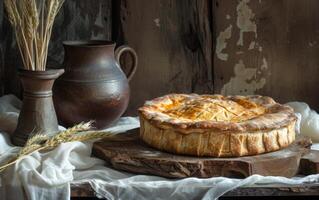
[[[296,120],[273,130],[241,133],[205,130],[201,134],[183,134],[175,129],[162,129],[142,115],[140,123],[140,138],[157,149],[194,156],[239,157],[287,147],[295,140]]]

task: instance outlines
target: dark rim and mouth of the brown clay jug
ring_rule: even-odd
[[[67,40],[62,42],[64,46],[67,47],[83,47],[83,48],[91,48],[91,47],[114,47],[116,45],[115,42],[110,40]]]

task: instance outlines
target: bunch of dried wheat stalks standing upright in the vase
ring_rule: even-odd
[[[45,71],[54,19],[64,0],[4,0],[24,68]]]

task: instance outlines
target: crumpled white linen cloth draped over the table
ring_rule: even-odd
[[[8,133],[16,125],[21,102],[14,96],[0,98],[0,162],[19,150],[11,145]],[[303,129],[301,114],[301,131]],[[319,122],[318,122],[319,123]],[[139,127],[137,118],[123,117],[108,130],[115,133]],[[271,183],[319,183],[319,175],[307,177],[264,177],[246,179],[166,179],[136,175],[104,166],[91,157],[92,142],[71,142],[47,153],[33,153],[1,173],[0,199],[69,199],[70,184],[89,183],[98,197],[107,199],[217,199],[241,186]]]

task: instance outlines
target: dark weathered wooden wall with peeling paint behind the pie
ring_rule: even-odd
[[[255,93],[319,110],[318,8],[317,0],[66,0],[48,65],[61,65],[64,40],[108,39],[133,47],[139,66],[130,83],[130,115],[145,100],[171,92]],[[124,70],[130,62],[124,57]],[[1,1],[1,95],[21,96],[19,66]]]

